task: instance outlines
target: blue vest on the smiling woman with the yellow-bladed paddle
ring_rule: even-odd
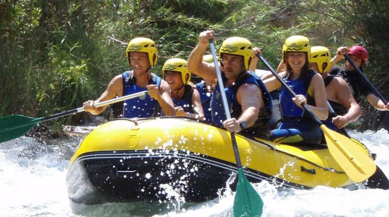
[[[301,94],[307,98],[307,104],[313,105],[312,97],[308,95],[309,84],[312,77],[315,75],[315,71],[310,70],[306,78],[298,78],[296,80],[290,80],[288,77],[284,78],[285,83],[296,93]],[[282,85],[280,94],[280,107],[282,118],[302,118],[304,115],[304,109],[296,105],[292,100],[293,96],[289,94],[287,89]],[[309,99],[310,98],[310,99]]]

